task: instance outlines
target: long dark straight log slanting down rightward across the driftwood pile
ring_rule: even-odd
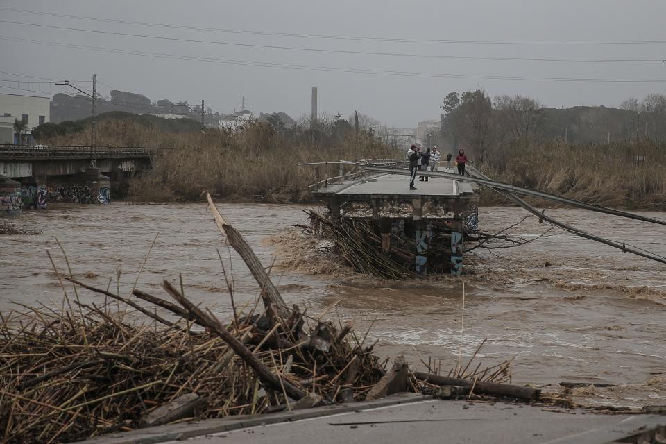
[[[176,287],[173,287],[169,281],[164,280],[162,285],[167,293],[169,293],[169,295],[171,295],[171,297],[176,300],[176,302],[178,302],[180,305],[182,305],[182,307],[187,309],[187,311],[196,317],[198,323],[205,325],[205,327],[211,332],[217,336],[220,336],[220,338],[225,341],[225,343],[227,343],[230,348],[232,348],[232,350],[234,350],[234,352],[236,352],[236,354],[241,359],[243,359],[246,364],[248,364],[248,366],[250,366],[250,368],[255,370],[255,373],[259,379],[264,382],[264,384],[278,391],[282,391],[282,386],[284,386],[284,391],[287,392],[287,395],[296,400],[300,400],[300,398],[303,398],[305,395],[307,395],[305,391],[302,391],[300,388],[294,386],[286,379],[282,379],[282,382],[280,382],[280,378],[277,375],[274,375],[273,372],[268,369],[268,367],[264,366],[262,361],[259,361],[259,359],[257,359],[257,357],[255,357],[255,355],[250,352],[244,343],[239,341],[236,336],[228,332],[224,325],[222,325],[219,321],[206,314],[203,310],[185,298],[185,296],[182,296],[180,291],[178,291]]]

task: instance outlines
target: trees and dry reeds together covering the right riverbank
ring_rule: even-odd
[[[559,110],[477,89],[447,94],[441,108],[436,143],[464,148],[490,178],[598,205],[666,210],[666,96]],[[482,205],[502,202],[483,191]]]

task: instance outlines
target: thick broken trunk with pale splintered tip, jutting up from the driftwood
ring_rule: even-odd
[[[208,205],[210,206],[210,211],[213,214],[217,227],[222,232],[222,234],[225,234],[229,244],[241,256],[241,259],[243,259],[245,264],[248,266],[248,269],[257,281],[257,284],[259,284],[259,288],[262,289],[262,298],[264,300],[265,308],[267,310],[271,308],[274,309],[275,314],[280,316],[282,319],[288,318],[289,309],[287,309],[287,305],[284,303],[282,296],[280,296],[280,292],[271,281],[271,278],[268,277],[268,273],[266,273],[266,270],[264,270],[264,266],[259,261],[257,255],[255,255],[255,252],[252,250],[252,247],[250,247],[250,244],[248,244],[248,241],[246,241],[243,235],[239,233],[236,228],[225,221],[225,219],[222,217],[222,214],[220,214],[220,212],[217,210],[213,199],[210,197],[210,194],[206,193],[206,197],[208,199]],[[271,304],[273,304],[273,307],[271,307]]]

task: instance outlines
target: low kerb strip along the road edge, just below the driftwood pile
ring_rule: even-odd
[[[396,393],[388,398],[379,400],[352,402],[349,404],[335,404],[312,409],[282,411],[280,413],[264,413],[260,415],[229,416],[227,418],[208,419],[191,422],[180,422],[171,425],[158,425],[146,429],[137,429],[131,432],[112,433],[77,444],[158,444],[167,441],[178,441],[197,436],[231,432],[232,430],[256,427],[259,425],[276,424],[278,422],[291,422],[309,418],[337,415],[357,410],[377,409],[407,402],[423,402],[432,399],[432,396],[416,393]]]

